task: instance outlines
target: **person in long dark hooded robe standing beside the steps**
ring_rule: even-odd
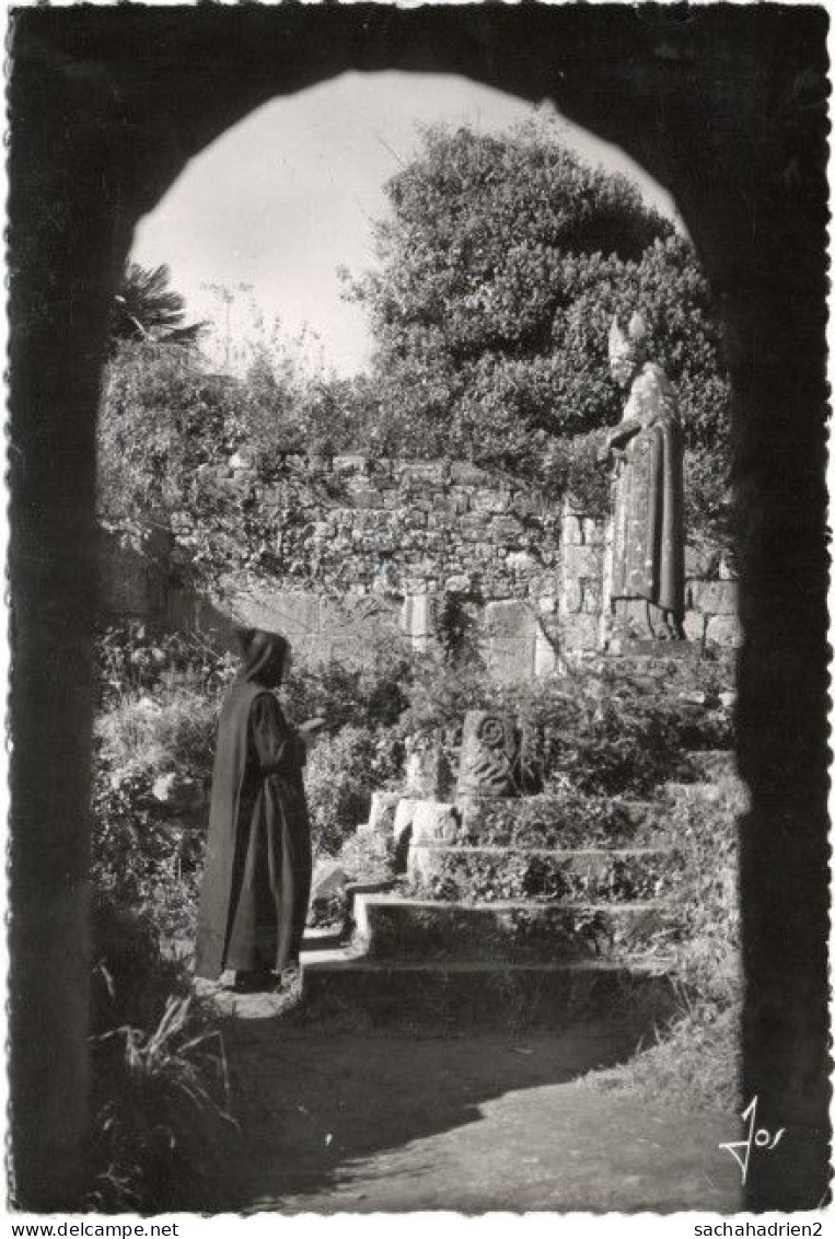
[[[195,970],[269,989],[297,966],[310,898],[306,745],[274,693],[289,643],[259,629],[239,637],[243,665],[221,709]]]

